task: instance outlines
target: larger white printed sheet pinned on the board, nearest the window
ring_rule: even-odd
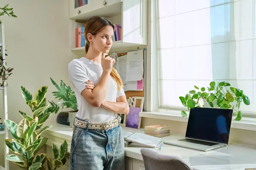
[[[143,50],[128,52],[126,82],[141,80],[143,69]]]

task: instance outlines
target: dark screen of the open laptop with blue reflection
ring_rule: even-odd
[[[190,109],[186,137],[228,144],[232,109]]]

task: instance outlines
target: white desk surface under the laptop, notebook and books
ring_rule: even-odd
[[[52,128],[42,134],[42,136],[49,138],[47,144],[52,146],[53,142],[60,145],[66,139],[69,145],[67,151],[69,152],[73,134],[72,128],[57,123],[52,125]],[[144,133],[144,129],[122,128],[124,132]],[[180,137],[182,136],[171,135],[164,137],[164,140]],[[143,160],[140,149],[140,147],[125,147],[125,156]],[[188,161],[195,170],[244,170],[245,168],[256,167],[256,146],[253,145],[230,143],[227,147],[207,152],[169,144],[163,144],[162,150],[150,149],[166,155],[179,156]]]

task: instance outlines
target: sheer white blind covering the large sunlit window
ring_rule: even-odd
[[[160,108],[227,81],[256,112],[256,0],[157,0]]]

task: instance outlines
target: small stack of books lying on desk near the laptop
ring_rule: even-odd
[[[166,125],[145,126],[144,133],[150,136],[162,138],[164,136],[170,135],[170,128],[171,128],[170,126],[166,126]]]

